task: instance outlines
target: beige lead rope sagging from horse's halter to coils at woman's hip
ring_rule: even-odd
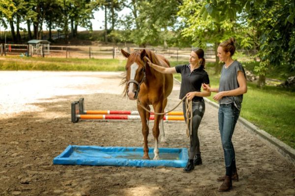
[[[192,111],[192,100],[188,100],[186,99],[186,97],[183,97],[181,99],[181,101],[177,104],[177,106],[185,99],[185,118],[186,118],[186,136],[189,137],[191,135],[191,130],[192,130],[192,118],[193,118],[193,111]],[[175,106],[172,110],[168,111],[168,112],[162,112],[162,113],[157,113],[157,112],[152,112],[150,110],[148,110],[145,106],[142,105],[142,103],[140,102],[140,100],[137,98],[137,104],[140,105],[144,110],[146,110],[148,113],[154,113],[157,115],[162,115],[162,114],[167,114],[169,112],[172,112],[173,110],[175,110],[177,108],[177,106]]]

